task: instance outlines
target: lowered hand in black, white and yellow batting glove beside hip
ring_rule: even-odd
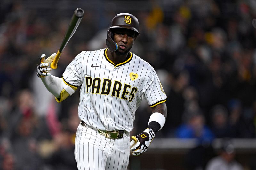
[[[132,150],[132,155],[137,156],[146,152],[148,146],[150,145],[151,141],[154,139],[155,133],[151,128],[147,128],[141,134],[137,136],[132,136],[132,140],[130,142],[130,147]]]

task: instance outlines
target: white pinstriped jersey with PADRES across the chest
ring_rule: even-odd
[[[143,98],[151,107],[166,101],[154,68],[137,55],[129,55],[114,65],[107,49],[82,51],[66,68],[64,82],[81,86],[78,116],[87,125],[130,132]]]

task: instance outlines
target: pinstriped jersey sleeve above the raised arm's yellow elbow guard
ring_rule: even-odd
[[[66,70],[62,74],[62,79],[65,84],[71,87],[78,87],[83,82],[83,60],[84,51],[78,54],[74,60],[69,63]]]

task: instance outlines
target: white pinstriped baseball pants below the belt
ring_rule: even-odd
[[[130,156],[130,134],[109,139],[91,126],[79,124],[75,140],[78,170],[126,170]]]

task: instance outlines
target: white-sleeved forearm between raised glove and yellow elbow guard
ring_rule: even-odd
[[[60,93],[63,90],[61,78],[51,75],[41,78],[41,80],[49,92],[51,92],[56,98],[60,98]]]

